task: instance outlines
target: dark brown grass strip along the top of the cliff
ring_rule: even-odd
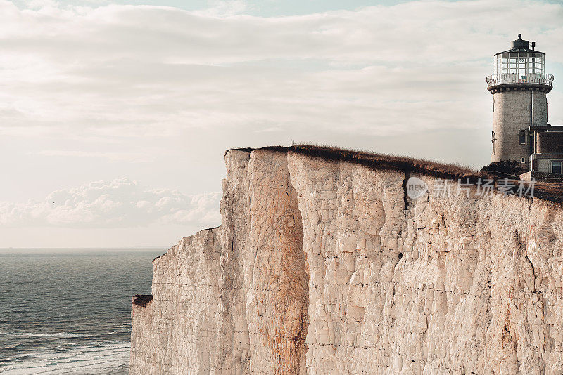
[[[499,180],[504,177],[496,177],[491,173],[475,171],[466,166],[457,164],[444,164],[433,162],[414,157],[405,157],[400,155],[374,154],[359,150],[349,150],[339,147],[319,146],[319,145],[293,145],[284,146],[268,146],[258,149],[254,148],[237,148],[233,150],[241,150],[252,152],[253,150],[270,150],[273,152],[295,152],[309,157],[317,157],[327,161],[345,161],[355,164],[368,166],[372,169],[391,169],[393,171],[401,171],[403,173],[419,173],[425,176],[436,178],[458,180],[463,183],[467,182],[475,184],[479,178]],[[228,152],[229,150],[227,150]],[[227,153],[225,152],[225,153]],[[563,203],[563,185],[553,183],[536,182],[534,196],[540,199]]]

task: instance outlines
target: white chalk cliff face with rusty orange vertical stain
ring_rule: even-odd
[[[560,374],[563,209],[227,152],[222,225],[153,262],[132,374]],[[436,179],[418,176],[430,187]]]

